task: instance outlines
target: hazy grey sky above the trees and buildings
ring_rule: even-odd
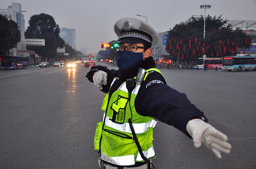
[[[60,27],[76,29],[76,46],[98,53],[101,42],[116,40],[114,23],[122,17],[148,15],[148,23],[163,32],[192,15],[204,14],[199,6],[212,5],[207,14],[228,20],[256,20],[256,0],[0,0],[0,8],[20,3],[25,27],[33,14],[46,13]]]

